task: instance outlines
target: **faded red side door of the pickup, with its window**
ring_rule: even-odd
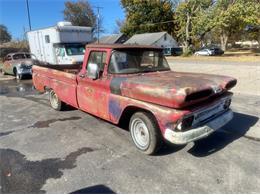
[[[90,52],[86,67],[91,63],[97,64],[100,70],[99,77],[91,79],[86,76],[87,74],[78,76],[77,89],[79,108],[103,119],[109,119],[108,98],[110,82],[107,76],[104,75],[107,58],[106,51]]]

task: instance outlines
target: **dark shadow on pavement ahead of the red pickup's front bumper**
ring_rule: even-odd
[[[196,157],[211,155],[244,136],[258,120],[258,117],[235,112],[227,125],[209,137],[196,141],[188,152]]]

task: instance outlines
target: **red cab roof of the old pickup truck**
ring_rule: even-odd
[[[128,44],[88,44],[86,48],[107,48],[107,49],[152,49],[162,50],[161,47],[150,45],[128,45]]]

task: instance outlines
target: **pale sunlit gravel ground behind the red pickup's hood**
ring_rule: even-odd
[[[199,72],[235,77],[237,86],[232,89],[237,94],[260,96],[260,62],[190,61],[169,58],[172,70]]]

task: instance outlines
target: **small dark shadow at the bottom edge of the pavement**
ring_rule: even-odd
[[[115,192],[105,185],[96,185],[71,192],[70,194],[115,194]]]

